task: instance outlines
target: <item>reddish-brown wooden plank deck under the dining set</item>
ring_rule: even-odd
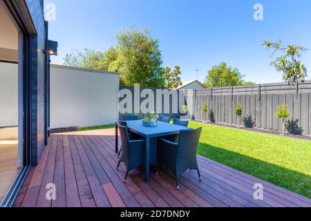
[[[167,171],[116,171],[113,129],[51,135],[41,161],[30,173],[15,201],[27,207],[254,207],[311,206],[311,200],[273,184],[198,156],[202,182],[195,171],[182,175],[180,191]],[[56,185],[56,200],[46,199],[46,185]],[[254,184],[264,186],[264,199],[254,200]]]

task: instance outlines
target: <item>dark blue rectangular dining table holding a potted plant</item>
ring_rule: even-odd
[[[189,130],[185,126],[158,122],[158,126],[143,126],[142,120],[127,122],[127,127],[131,133],[138,134],[144,137],[145,140],[145,180],[149,182],[149,167],[150,167],[150,140],[151,138],[164,137],[167,135],[178,135],[181,130]],[[117,140],[116,140],[117,142]],[[116,143],[117,146],[117,143]]]

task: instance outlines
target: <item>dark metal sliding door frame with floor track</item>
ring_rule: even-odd
[[[28,31],[26,23],[23,19],[23,15],[19,10],[14,1],[5,0],[6,6],[12,17],[14,17],[17,25],[19,26],[19,78],[22,77],[22,93],[19,93],[19,99],[22,100],[22,113],[19,111],[19,119],[21,118],[22,122],[22,138],[19,139],[19,142],[22,142],[22,151],[23,151],[23,164],[19,174],[15,178],[15,181],[12,183],[10,190],[8,191],[6,197],[0,202],[0,207],[11,207],[13,206],[15,199],[21,189],[21,186],[26,179],[26,175],[30,169],[31,164],[31,148],[30,148],[30,106],[31,106],[31,57],[32,57],[32,44],[31,44],[31,35]],[[21,51],[20,51],[21,50]],[[20,75],[20,72],[22,73]],[[21,86],[19,83],[19,87]],[[22,95],[21,95],[22,94]],[[20,102],[19,102],[20,106]],[[20,127],[20,125],[19,125]],[[19,130],[21,131],[21,130]],[[20,136],[20,135],[19,135]],[[20,151],[20,150],[19,150]]]

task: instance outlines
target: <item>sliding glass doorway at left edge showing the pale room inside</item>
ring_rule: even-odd
[[[0,1],[0,205],[25,165],[23,33]]]

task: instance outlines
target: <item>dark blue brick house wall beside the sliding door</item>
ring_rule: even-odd
[[[45,24],[42,2],[26,0],[37,35],[32,36],[32,98],[31,98],[31,146],[32,164],[37,164],[44,149],[44,70]]]

